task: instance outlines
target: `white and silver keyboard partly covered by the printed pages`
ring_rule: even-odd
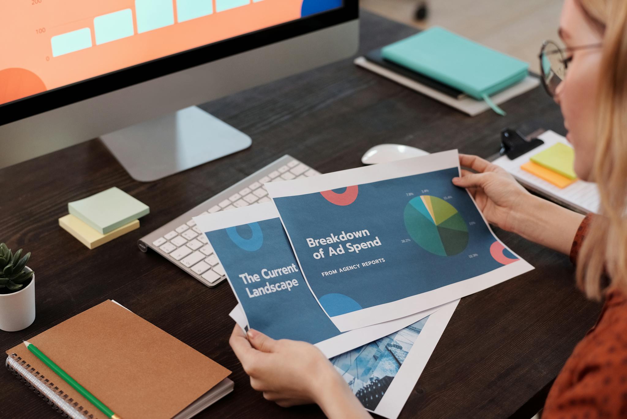
[[[264,183],[319,174],[318,171],[285,155],[142,237],[137,244],[144,252],[150,248],[161,254],[204,285],[216,286],[226,279],[224,268],[213,253],[211,243],[196,226],[192,217],[268,202],[270,198]]]

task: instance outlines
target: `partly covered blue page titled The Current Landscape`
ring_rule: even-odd
[[[342,333],[307,286],[274,204],[256,204],[194,220],[223,265],[248,325],[273,339],[304,340],[331,357],[435,311]]]

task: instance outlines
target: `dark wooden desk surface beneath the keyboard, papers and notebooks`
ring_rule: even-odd
[[[414,31],[364,12],[361,52]],[[235,391],[199,418],[319,417],[315,407],[282,409],[250,388],[228,346],[228,312],[236,300],[226,283],[206,288],[161,256],[140,252],[137,239],[285,153],[328,172],[360,166],[364,151],[379,143],[488,156],[507,126],[524,133],[540,127],[564,131],[558,107],[541,87],[505,104],[507,117],[485,112],[471,118],[352,60],[202,107],[250,134],[253,146],[152,183],[132,180],[98,140],[0,170],[0,241],[33,252],[37,281],[34,324],[0,332],[1,347],[113,298],[233,371]],[[150,205],[150,214],[139,230],[90,251],[61,230],[57,219],[69,201],[112,186]],[[599,305],[575,290],[566,256],[497,234],[536,269],[461,300],[401,418],[525,416],[542,406],[542,397],[527,401],[542,394],[593,325]],[[177,361],[181,374],[193,374],[194,366]],[[11,374],[0,374],[0,388],[1,417],[58,417]]]

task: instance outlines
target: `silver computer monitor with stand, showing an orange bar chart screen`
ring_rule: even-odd
[[[0,2],[0,167],[101,137],[137,180],[241,150],[201,111],[349,57],[357,0]]]

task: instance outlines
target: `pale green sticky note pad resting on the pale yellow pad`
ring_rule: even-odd
[[[100,234],[107,234],[143,217],[150,209],[123,190],[113,187],[70,202],[68,211]]]

